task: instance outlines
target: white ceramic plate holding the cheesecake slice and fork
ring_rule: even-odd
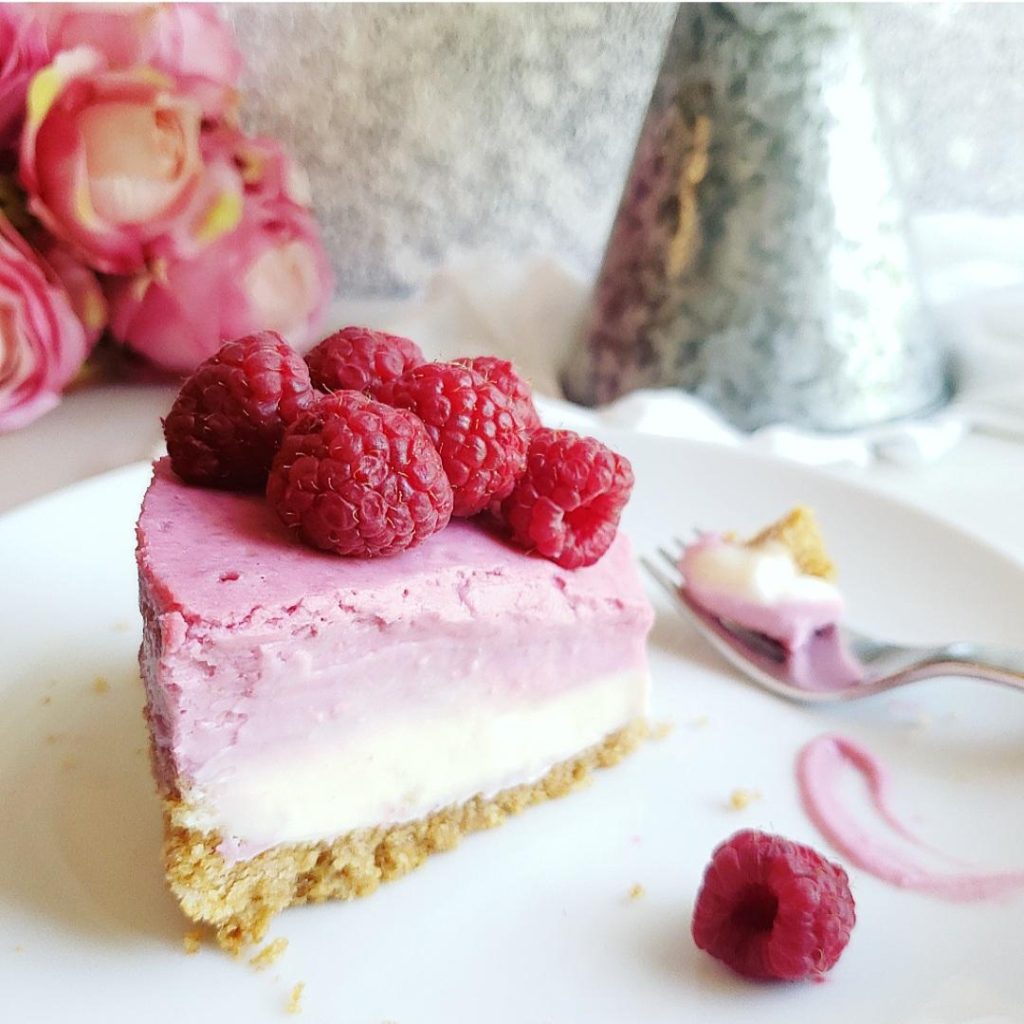
[[[937,520],[763,458],[613,440],[636,469],[627,526],[641,551],[808,502],[856,625],[1024,643],[1024,572]],[[820,985],[744,983],[689,937],[724,837],[763,827],[826,849],[794,784],[798,749],[825,731],[891,766],[895,803],[928,840],[979,866],[1024,867],[1021,694],[942,680],[791,707],[740,681],[653,588],[667,738],[370,899],[286,912],[270,935],[290,945],[267,971],[210,945],[185,956],[135,664],[132,525],[147,475],[130,467],[0,519],[0,1020],[280,1021],[299,981],[302,1019],[332,1024],[1024,1019],[1024,898],[943,903],[853,870],[859,923]],[[763,796],[732,810],[736,787]],[[634,884],[646,895],[631,901]]]

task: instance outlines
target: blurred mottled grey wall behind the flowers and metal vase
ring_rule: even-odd
[[[245,119],[309,172],[346,296],[454,249],[592,274],[673,4],[231,4]],[[1024,214],[1024,4],[860,9],[911,212]]]

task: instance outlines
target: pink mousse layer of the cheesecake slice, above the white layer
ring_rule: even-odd
[[[624,535],[571,571],[459,520],[398,556],[343,559],[291,538],[261,497],[187,486],[166,459],[137,532],[168,788],[389,714],[539,700],[646,670],[653,614]]]

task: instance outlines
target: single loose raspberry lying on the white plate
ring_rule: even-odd
[[[820,978],[856,923],[846,871],[808,846],[748,829],[712,856],[693,941],[746,978]]]

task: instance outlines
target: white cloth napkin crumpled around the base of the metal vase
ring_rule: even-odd
[[[420,295],[372,311],[374,323],[415,338],[432,358],[512,359],[532,382],[545,422],[578,430],[604,423],[745,444],[811,465],[929,462],[971,429],[1024,440],[1024,217],[930,216],[915,222],[914,233],[926,292],[961,364],[959,391],[939,413],[842,435],[785,424],[743,433],[674,389],[637,391],[599,410],[565,401],[558,372],[582,328],[589,288],[552,257],[456,253]],[[335,319],[357,323],[360,311],[340,305]]]

